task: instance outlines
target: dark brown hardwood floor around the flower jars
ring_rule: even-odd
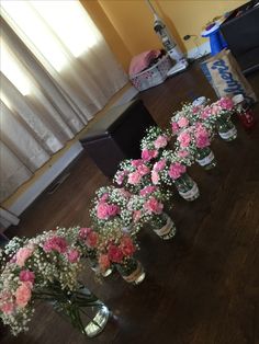
[[[259,73],[248,79],[259,96]],[[166,126],[172,110],[198,95],[215,98],[196,65],[140,98]],[[259,122],[259,106],[255,111]],[[213,142],[216,169],[191,168],[201,197],[187,203],[176,196],[176,238],[164,242],[151,232],[142,233],[143,284],[134,287],[113,274],[100,285],[86,272],[87,285],[113,311],[101,335],[85,339],[41,305],[30,332],[12,337],[4,330],[1,344],[258,344],[259,123],[249,134],[237,127],[234,142]],[[42,195],[8,234],[88,225],[91,196],[106,183],[83,152],[66,182],[53,195]]]

